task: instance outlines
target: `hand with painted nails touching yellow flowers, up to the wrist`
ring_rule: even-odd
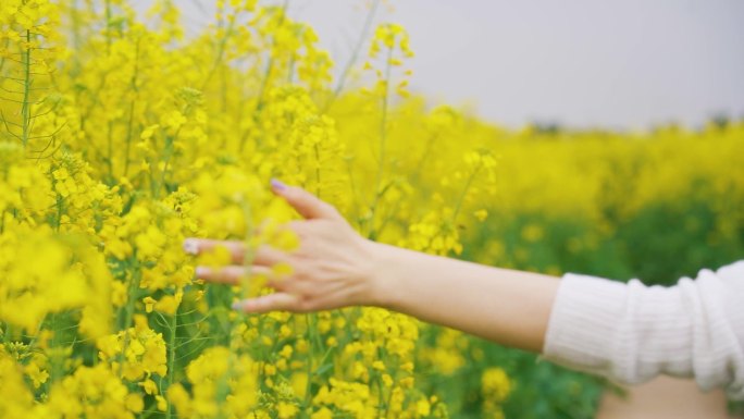
[[[272,190],[305,218],[286,225],[298,236],[299,247],[287,252],[260,246],[252,267],[247,269],[243,266],[245,245],[241,242],[187,238],[186,251],[199,254],[224,246],[235,263],[220,270],[197,267],[197,276],[214,283],[237,284],[246,276],[265,275],[266,284],[276,292],[233,305],[246,312],[308,312],[373,304],[375,243],[360,236],[333,206],[307,190],[278,181],[272,181]],[[277,263],[289,264],[292,273],[274,276],[271,267]]]

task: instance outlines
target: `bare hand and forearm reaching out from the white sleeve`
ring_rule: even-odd
[[[335,208],[299,187],[272,182],[275,194],[305,221],[287,227],[300,239],[294,251],[259,247],[245,272],[241,242],[189,238],[186,251],[222,245],[235,266],[197,276],[236,284],[246,274],[268,276],[274,294],[238,301],[246,312],[326,310],[371,305],[472,333],[487,340],[541,352],[559,281],[549,275],[432,256],[377,244],[357,234]],[[273,278],[271,267],[287,263],[288,276]]]

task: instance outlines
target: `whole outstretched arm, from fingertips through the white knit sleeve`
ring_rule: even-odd
[[[277,181],[272,188],[306,218],[287,225],[300,238],[297,248],[259,246],[247,268],[243,242],[184,243],[191,254],[231,249],[234,264],[198,267],[200,279],[239,284],[261,275],[275,289],[236,301],[236,309],[308,312],[376,305],[627,381],[647,371],[694,370],[702,386],[727,384],[744,397],[744,262],[716,275],[702,272],[696,286],[686,281],[661,294],[633,294],[637,286],[603,279],[558,281],[377,244],[307,190]],[[275,275],[280,263],[290,266],[292,274]],[[679,332],[670,334],[670,328]]]

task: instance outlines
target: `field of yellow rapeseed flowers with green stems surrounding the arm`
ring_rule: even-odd
[[[0,4],[0,418],[494,418],[535,402],[526,380],[586,398],[575,375],[381,308],[232,311],[271,289],[195,280],[236,255],[182,243],[243,241],[246,264],[292,250],[271,177],[368,238],[503,267],[649,269],[649,218],[679,218],[664,246],[695,237],[700,263],[741,251],[741,122],[507,131],[411,95],[399,25],[334,82],[286,7],[218,1],[187,36],[177,4]]]

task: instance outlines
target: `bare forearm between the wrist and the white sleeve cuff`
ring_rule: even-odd
[[[373,304],[541,352],[558,279],[377,245]]]

